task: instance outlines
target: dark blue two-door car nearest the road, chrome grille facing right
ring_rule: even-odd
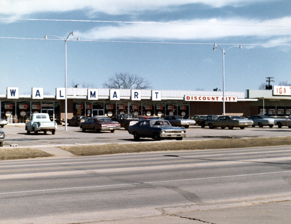
[[[184,127],[172,127],[167,120],[141,120],[129,127],[128,132],[133,135],[134,140],[139,138],[152,138],[156,141],[161,139],[182,140],[186,137]]]

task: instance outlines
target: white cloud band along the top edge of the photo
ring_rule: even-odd
[[[121,15],[195,3],[205,4],[211,7],[222,7],[226,5],[239,6],[253,2],[269,1],[275,0],[1,0],[0,14],[16,16],[44,12],[69,12],[83,9],[88,12],[104,12],[110,15]]]

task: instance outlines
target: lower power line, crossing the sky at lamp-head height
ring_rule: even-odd
[[[17,38],[17,37],[0,37],[0,39],[20,39],[20,40],[45,40],[45,41],[64,41],[61,39],[40,39],[40,38]],[[213,43],[170,43],[170,42],[136,42],[136,41],[90,41],[90,40],[67,40],[77,42],[109,42],[109,43],[133,43],[133,44],[197,44],[213,45]],[[220,45],[253,45],[253,46],[291,46],[291,44],[220,44]]]

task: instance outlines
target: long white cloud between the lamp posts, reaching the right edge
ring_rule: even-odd
[[[226,37],[256,37],[269,39],[291,35],[291,28],[274,27],[289,26],[291,17],[273,20],[247,20],[243,18],[212,18],[204,20],[179,20],[171,23],[191,23],[202,25],[173,25],[173,24],[120,24],[96,27],[88,32],[78,33],[84,40],[201,40]],[[207,24],[207,25],[206,25]],[[217,24],[224,24],[217,25]],[[232,25],[238,26],[232,26]],[[251,26],[242,26],[251,25]],[[259,26],[258,26],[259,25]],[[261,25],[261,26],[260,26]],[[263,25],[263,26],[262,26]],[[288,41],[281,38],[281,42]],[[279,40],[278,40],[279,41]]]

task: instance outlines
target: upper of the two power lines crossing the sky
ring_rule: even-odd
[[[69,20],[69,19],[13,19],[13,18],[0,18],[0,20],[70,21],[70,22],[104,22],[104,23],[140,23],[140,24],[208,25],[208,26],[291,27],[291,26],[272,26],[272,25],[207,24],[207,23],[206,24],[199,24],[199,23],[167,23],[167,22],[128,22],[128,21]]]

